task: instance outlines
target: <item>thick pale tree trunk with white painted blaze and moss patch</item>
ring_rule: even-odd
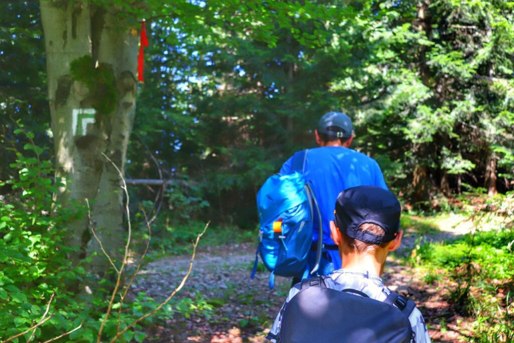
[[[41,0],[40,5],[56,177],[66,184],[58,201],[70,206],[88,198],[99,238],[119,257],[123,192],[116,169],[102,153],[124,170],[135,113],[138,39],[108,10],[89,2]],[[87,216],[71,222],[68,230],[68,244],[80,248],[70,259],[77,263],[98,252],[90,270],[105,272],[108,264],[91,239]]]

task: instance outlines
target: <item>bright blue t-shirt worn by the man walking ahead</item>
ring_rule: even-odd
[[[289,174],[292,157],[285,161],[281,174]],[[388,189],[377,162],[360,152],[344,147],[309,149],[305,159],[305,180],[310,183],[318,200],[323,222],[323,243],[334,245],[330,237],[330,221],[334,220],[336,199],[340,192],[356,186],[378,186]],[[313,241],[318,241],[319,229],[314,222]]]

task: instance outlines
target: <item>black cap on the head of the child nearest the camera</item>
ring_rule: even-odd
[[[400,202],[390,191],[376,186],[358,186],[339,193],[334,216],[341,233],[362,242],[380,244],[396,237],[400,213]],[[360,226],[365,223],[380,226],[386,234],[376,236],[362,231]]]

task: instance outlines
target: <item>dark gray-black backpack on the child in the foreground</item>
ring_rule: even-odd
[[[302,280],[283,309],[280,343],[414,342],[409,315],[413,301],[392,292],[371,299],[350,288],[333,290],[322,277]]]

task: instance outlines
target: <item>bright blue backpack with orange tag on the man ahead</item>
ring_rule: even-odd
[[[259,246],[255,251],[250,278],[255,276],[260,254],[264,265],[271,272],[270,289],[273,289],[275,275],[303,276],[313,241],[314,208],[317,209],[318,223],[321,223],[318,202],[303,177],[306,156],[307,150],[293,155],[293,172],[270,176],[257,194]],[[322,226],[318,226],[322,237]],[[318,240],[316,264],[310,274],[315,274],[318,270],[321,243],[322,240]]]

